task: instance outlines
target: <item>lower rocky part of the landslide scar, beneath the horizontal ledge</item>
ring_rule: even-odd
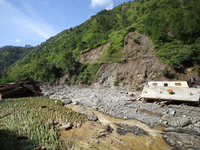
[[[119,86],[135,87],[147,80],[164,79],[160,71],[164,68],[165,65],[154,55],[142,55],[138,58],[127,59],[123,63],[102,64],[94,82],[105,86],[113,86],[115,82],[118,82]]]

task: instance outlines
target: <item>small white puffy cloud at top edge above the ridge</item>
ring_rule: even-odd
[[[106,9],[112,9],[114,6],[113,0],[91,0],[91,7],[95,8],[96,6],[105,7]]]

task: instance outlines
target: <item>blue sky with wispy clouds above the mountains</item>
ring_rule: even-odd
[[[0,47],[37,46],[130,0],[0,0]],[[131,0],[132,1],[132,0]]]

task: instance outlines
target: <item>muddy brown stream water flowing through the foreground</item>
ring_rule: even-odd
[[[67,105],[68,108],[73,109],[76,111],[75,107],[72,105]],[[161,126],[154,126],[154,128],[149,127],[148,125],[141,123],[137,120],[123,120],[123,119],[117,119],[113,118],[108,115],[104,115],[98,111],[92,110],[91,108],[88,108],[98,117],[99,121],[103,125],[109,125],[112,127],[115,132],[118,135],[119,139],[122,139],[125,141],[132,149],[134,150],[171,150],[173,147],[165,143],[165,141],[162,138],[161,131],[163,127]],[[123,126],[120,126],[123,125]],[[129,132],[132,130],[131,127],[137,128],[137,131],[143,131],[143,133],[137,133]],[[120,135],[117,131],[119,129],[123,130],[129,128],[129,131],[123,135]],[[135,129],[133,128],[133,129]]]

